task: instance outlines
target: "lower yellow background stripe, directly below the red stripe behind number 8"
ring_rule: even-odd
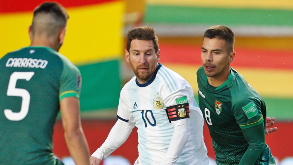
[[[163,63],[185,78],[197,91],[196,71],[200,65]],[[233,65],[232,65],[233,67]],[[262,96],[293,98],[292,70],[233,67]],[[196,93],[195,93],[196,94]]]

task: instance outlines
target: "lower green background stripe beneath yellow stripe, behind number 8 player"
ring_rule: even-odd
[[[197,91],[195,91],[197,94]],[[198,103],[198,95],[195,95],[195,100]],[[263,97],[267,107],[267,116],[275,117],[276,120],[293,120],[293,98],[270,98]]]

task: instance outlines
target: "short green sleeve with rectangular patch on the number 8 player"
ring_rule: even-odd
[[[254,127],[263,124],[261,100],[248,97],[246,100],[238,100],[234,102],[232,107],[236,122],[241,129]]]

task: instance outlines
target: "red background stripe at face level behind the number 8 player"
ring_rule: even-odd
[[[231,64],[241,67],[293,69],[293,53],[289,50],[262,50],[235,48]],[[190,53],[192,52],[192,53]],[[160,62],[202,65],[201,46],[160,44]]]

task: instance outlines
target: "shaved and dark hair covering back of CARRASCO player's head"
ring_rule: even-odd
[[[56,2],[45,2],[36,7],[31,31],[33,36],[55,37],[65,28],[69,16],[63,6]]]

